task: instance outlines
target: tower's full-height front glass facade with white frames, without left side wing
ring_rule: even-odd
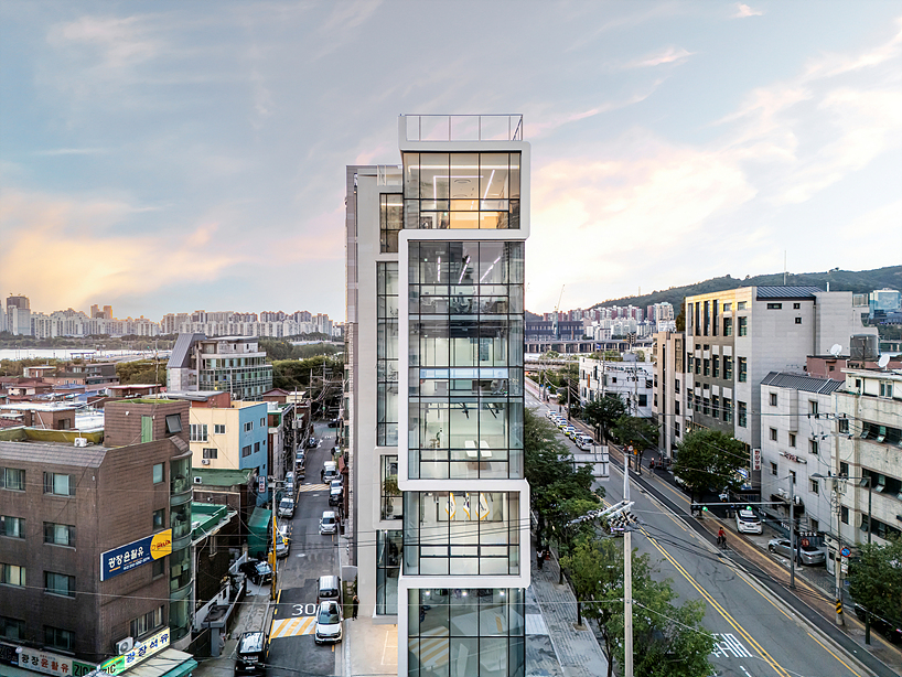
[[[402,153],[398,658],[410,676],[525,674],[524,153],[481,144],[491,152]]]

